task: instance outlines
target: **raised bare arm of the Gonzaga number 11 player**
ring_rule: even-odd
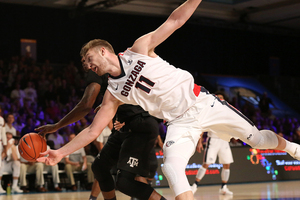
[[[187,0],[175,9],[169,18],[155,31],[138,38],[131,50],[155,57],[154,49],[179,29],[192,16],[202,0]]]

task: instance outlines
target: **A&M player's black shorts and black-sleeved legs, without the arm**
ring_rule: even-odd
[[[117,164],[117,188],[131,197],[142,199],[164,199],[139,176],[149,174],[149,155],[159,133],[158,121],[140,106],[119,106],[116,118],[125,122],[120,130],[113,130],[108,141],[93,164],[93,171],[104,192],[113,191],[114,181],[109,176]],[[139,176],[137,176],[139,175]]]

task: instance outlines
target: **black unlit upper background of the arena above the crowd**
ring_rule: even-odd
[[[91,12],[71,18],[68,11],[0,3],[0,58],[20,54],[20,39],[37,41],[37,62],[79,63],[79,51],[90,39],[109,41],[124,51],[166,17]],[[198,25],[193,19],[156,52],[171,64],[208,74],[299,76],[300,37]]]

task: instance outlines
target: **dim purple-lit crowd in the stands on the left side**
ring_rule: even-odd
[[[38,126],[59,121],[79,102],[86,86],[85,75],[73,62],[53,66],[49,60],[37,65],[29,57],[0,60],[1,116],[7,121],[9,114],[13,115],[10,120],[14,120],[14,136],[21,137]],[[99,102],[100,98],[96,103]],[[93,115],[91,111],[86,118],[59,130],[63,143],[68,142],[71,133],[77,134],[88,126]]]

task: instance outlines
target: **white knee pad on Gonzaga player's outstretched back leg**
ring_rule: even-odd
[[[259,134],[255,134],[257,143],[251,145],[256,149],[275,149],[278,146],[278,138],[273,131],[261,130]]]

